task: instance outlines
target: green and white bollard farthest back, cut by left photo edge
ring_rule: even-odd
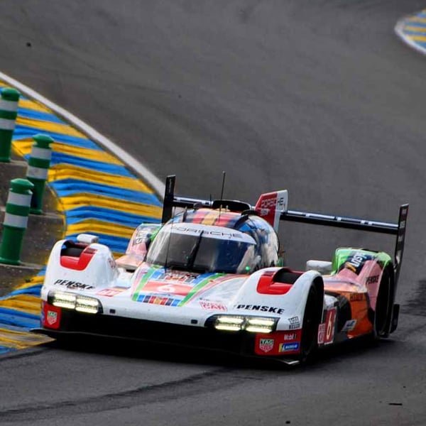
[[[16,116],[20,93],[16,89],[6,87],[1,90],[0,98],[0,161],[11,160],[12,136],[15,130]]]

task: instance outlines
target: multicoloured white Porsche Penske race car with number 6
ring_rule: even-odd
[[[288,209],[288,192],[236,200],[175,195],[165,182],[161,224],[141,224],[119,258],[80,234],[53,247],[41,290],[41,328],[141,339],[299,364],[317,349],[361,336],[388,337],[408,204],[397,223]],[[339,248],[306,271],[283,266],[280,222],[374,231],[396,237],[383,251]]]

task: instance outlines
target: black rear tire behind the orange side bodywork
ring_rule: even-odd
[[[376,339],[388,337],[392,313],[392,283],[388,271],[384,271],[378,288],[376,311],[374,312],[373,335]]]

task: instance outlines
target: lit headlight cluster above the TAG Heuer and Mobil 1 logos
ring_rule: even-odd
[[[208,322],[217,330],[226,330],[229,332],[244,330],[251,333],[271,333],[275,331],[278,318],[215,315]]]

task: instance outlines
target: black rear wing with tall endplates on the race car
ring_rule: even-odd
[[[163,218],[162,223],[167,222],[173,214],[173,207],[194,208],[194,207],[229,207],[234,211],[243,212],[244,210],[256,210],[259,212],[258,204],[256,207],[251,206],[246,202],[236,200],[197,200],[188,197],[175,196],[175,182],[174,175],[168,176],[165,181],[165,193],[163,204]],[[280,192],[276,192],[278,194]],[[274,194],[273,192],[268,195]],[[264,195],[261,195],[261,198]],[[261,198],[259,200],[261,200]],[[278,197],[277,197],[278,198]],[[283,204],[283,211],[280,212],[280,221],[300,222],[305,224],[316,224],[323,226],[334,226],[344,229],[356,229],[359,231],[377,232],[379,234],[395,235],[395,254],[394,254],[394,270],[395,270],[395,283],[398,282],[400,273],[400,266],[403,261],[404,245],[405,245],[405,229],[408,217],[408,204],[403,204],[399,209],[399,217],[397,223],[392,222],[379,222],[368,219],[357,219],[355,217],[333,216],[330,214],[301,212],[298,210],[288,210],[287,201]],[[266,216],[268,220],[268,212],[259,212],[261,216]],[[263,214],[265,213],[265,214]],[[273,223],[272,223],[273,224]],[[276,228],[275,228],[276,229]]]

